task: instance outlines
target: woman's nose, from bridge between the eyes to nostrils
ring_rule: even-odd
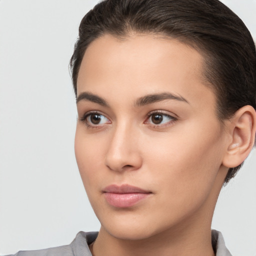
[[[116,127],[105,155],[105,165],[115,171],[136,170],[142,165],[137,132],[128,125]]]

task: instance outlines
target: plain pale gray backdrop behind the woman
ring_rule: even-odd
[[[0,0],[0,254],[68,244],[99,229],[75,162],[68,61],[97,0]],[[256,38],[256,0],[223,0]],[[212,227],[256,255],[256,152],[222,189]]]

